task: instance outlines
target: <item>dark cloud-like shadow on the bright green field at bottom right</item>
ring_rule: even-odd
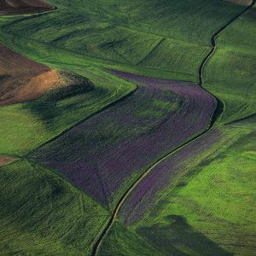
[[[169,224],[137,229],[152,247],[166,255],[233,255],[191,227],[185,218],[170,215]]]

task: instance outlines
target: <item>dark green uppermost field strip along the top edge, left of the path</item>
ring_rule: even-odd
[[[63,10],[65,2],[67,0],[51,1]],[[209,45],[211,35],[244,8],[218,0],[138,0],[136,3],[132,0],[75,0],[68,9],[77,11],[76,6],[79,6],[79,14],[87,13],[92,18],[96,13],[97,20],[100,17],[113,25],[204,45]]]

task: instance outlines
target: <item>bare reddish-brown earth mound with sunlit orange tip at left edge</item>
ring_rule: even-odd
[[[0,106],[32,101],[58,82],[57,73],[49,67],[0,44]]]

